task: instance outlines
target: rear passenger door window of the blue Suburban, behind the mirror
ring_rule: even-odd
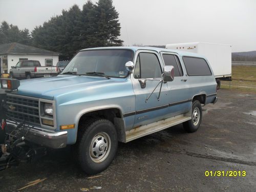
[[[174,76],[183,76],[180,60],[176,55],[163,54],[163,61],[165,66],[174,66]]]

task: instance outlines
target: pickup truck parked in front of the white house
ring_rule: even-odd
[[[10,78],[16,79],[51,77],[56,75],[58,75],[57,67],[41,67],[38,60],[18,61],[16,66],[10,69]]]

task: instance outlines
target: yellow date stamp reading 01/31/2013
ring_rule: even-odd
[[[206,170],[206,177],[246,177],[245,170]]]

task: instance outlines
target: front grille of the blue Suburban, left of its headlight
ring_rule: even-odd
[[[40,124],[38,99],[8,94],[7,104],[9,108],[7,111],[7,119],[10,117],[17,121]]]

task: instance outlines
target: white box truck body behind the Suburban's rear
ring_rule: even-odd
[[[167,44],[165,48],[204,55],[214,71],[217,89],[221,86],[221,80],[232,80],[230,45],[210,42],[187,42],[182,44]]]

